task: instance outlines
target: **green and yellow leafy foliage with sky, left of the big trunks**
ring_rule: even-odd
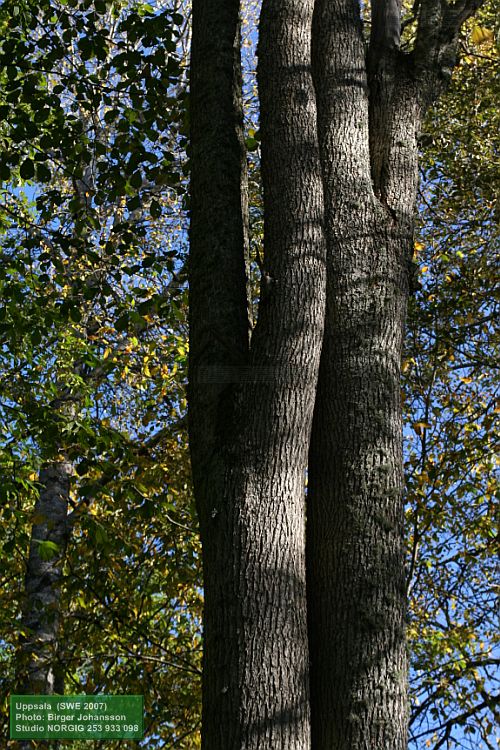
[[[178,155],[185,136],[176,40],[183,27],[175,10],[140,4],[46,3],[8,21],[2,351],[9,380],[2,407],[9,415],[6,478],[21,467],[25,483],[4,485],[2,511],[19,522],[9,524],[3,548],[10,614],[20,617],[17,628],[10,622],[8,644],[17,633],[23,640],[6,693],[26,671],[25,685],[35,692],[64,684],[90,693],[112,685],[114,692],[121,679],[126,690],[147,685],[151,746],[193,747],[200,595],[188,585],[197,580],[198,553],[186,523],[179,418],[185,328]],[[177,97],[160,112],[158,91],[171,89]],[[132,107],[141,111],[144,131]],[[26,182],[24,194],[35,201],[20,193]],[[50,472],[62,445],[71,486],[56,497],[61,518],[48,518],[47,480],[57,490]],[[167,456],[179,460],[167,466]],[[134,536],[130,519],[140,517],[141,535]],[[64,545],[63,524],[71,527]],[[33,670],[44,662],[33,684]],[[174,686],[176,698],[160,707],[159,695]]]

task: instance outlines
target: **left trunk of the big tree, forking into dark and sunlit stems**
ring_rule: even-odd
[[[222,56],[220,44],[221,33],[227,31],[227,39],[234,38],[237,5],[231,31],[225,23],[221,26],[218,6],[214,2],[194,6],[195,16],[200,15],[193,27],[193,35],[198,30],[198,37],[193,36],[193,83],[201,66],[213,73],[235,64],[229,55]],[[199,35],[210,34],[207,20],[200,27],[203,7],[216,19],[217,33],[212,38],[219,47],[210,51],[205,46],[200,56],[199,50],[195,54]],[[196,151],[202,134],[193,131],[193,140],[198,138],[193,160],[198,159],[198,164],[193,162],[189,398],[204,557],[202,742],[207,750],[310,747],[304,472],[325,304],[311,19],[310,1],[264,2],[259,86],[265,144],[265,265],[272,280],[262,289],[248,353],[242,343],[243,324],[228,348],[217,349],[214,334],[234,331],[235,320],[246,322],[243,294],[229,318],[223,303],[214,299],[220,289],[223,294],[228,288],[231,293],[235,288],[244,290],[243,271],[241,278],[239,271],[235,273],[235,284],[230,285],[226,268],[226,261],[229,269],[243,267],[242,233],[238,238],[235,232],[227,256],[219,253],[218,262],[200,248],[205,235],[215,248],[226,242],[227,215],[214,217],[213,206],[220,205],[231,190],[236,193],[241,163],[235,149],[232,182],[217,186],[219,160],[214,157],[210,166]],[[229,99],[230,83],[226,70],[213,102],[219,113],[221,102]],[[202,96],[198,83],[192,90],[193,107],[201,106]],[[226,128],[230,125],[234,131],[239,104],[234,90],[232,96]],[[210,119],[209,112],[206,116]],[[219,123],[205,140],[205,148],[214,153],[221,127]],[[234,210],[236,195],[232,200]],[[196,230],[203,220],[205,235]],[[202,292],[211,295],[208,301]],[[211,308],[212,301],[221,305],[220,310]],[[206,326],[208,312],[200,312],[204,305],[211,308],[212,328]],[[209,454],[204,448],[207,436],[212,440]]]

